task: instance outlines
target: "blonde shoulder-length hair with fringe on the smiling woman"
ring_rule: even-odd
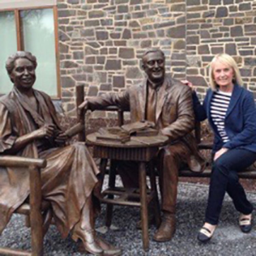
[[[220,54],[217,54],[209,64],[209,83],[210,83],[210,87],[212,88],[212,90],[215,91],[218,88],[218,85],[216,84],[216,82],[214,81],[214,78],[213,78],[214,64],[217,61],[219,61],[233,69],[233,72],[234,72],[233,83],[234,84],[243,85],[243,80],[241,78],[240,71],[239,71],[236,61],[230,55],[228,55],[226,53],[220,53]]]

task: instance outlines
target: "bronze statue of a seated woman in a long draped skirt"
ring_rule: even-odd
[[[99,170],[82,143],[65,146],[51,98],[32,88],[36,58],[17,52],[6,61],[14,86],[0,98],[0,154],[39,157],[47,160],[42,169],[42,195],[51,203],[53,218],[63,238],[72,232],[86,251],[94,255],[120,255],[94,231],[93,189]],[[0,167],[0,232],[12,213],[29,195],[29,174],[17,168]]]

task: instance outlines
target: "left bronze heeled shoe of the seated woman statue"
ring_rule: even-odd
[[[85,251],[93,255],[103,255],[102,248],[96,242],[95,230],[84,230],[84,229],[75,229],[72,234],[72,239],[77,242],[80,239],[83,243],[83,248]]]

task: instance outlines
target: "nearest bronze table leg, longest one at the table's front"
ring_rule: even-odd
[[[140,202],[141,202],[141,224],[143,248],[148,251],[148,211],[147,211],[147,185],[146,185],[146,166],[145,162],[139,163],[139,183],[140,183]]]

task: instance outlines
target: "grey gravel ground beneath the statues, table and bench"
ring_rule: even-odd
[[[180,183],[177,198],[177,228],[173,239],[166,243],[156,243],[152,240],[155,227],[150,227],[150,250],[142,249],[141,231],[136,229],[140,211],[132,207],[114,207],[112,223],[117,230],[108,230],[101,236],[107,241],[120,246],[122,255],[211,255],[211,256],[255,256],[256,255],[256,225],[249,234],[244,234],[238,226],[239,214],[233,207],[228,196],[225,197],[218,228],[213,238],[207,244],[197,241],[197,231],[203,224],[208,186],[200,184]],[[256,193],[247,193],[248,199],[256,203]],[[255,212],[254,212],[255,213]],[[102,207],[96,227],[104,225],[105,207]],[[0,246],[30,248],[30,230],[24,227],[23,216],[13,215],[0,236]],[[60,233],[51,226],[44,238],[44,255],[78,256],[77,246],[71,237],[62,239]]]

